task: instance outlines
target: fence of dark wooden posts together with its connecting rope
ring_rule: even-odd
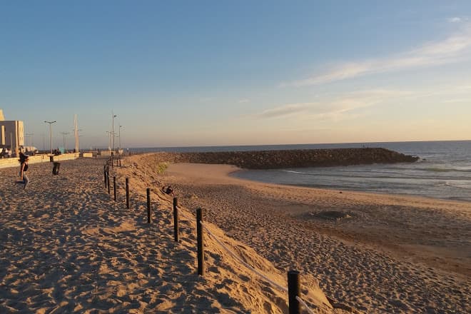
[[[108,194],[110,193],[110,166],[113,168],[113,163],[116,161],[116,166],[121,167],[121,156],[113,156],[109,157],[106,161],[106,165],[103,167],[104,171],[104,182],[105,188],[108,188]],[[146,189],[146,196],[147,196],[147,223],[151,223],[151,189]],[[114,201],[116,201],[116,176],[113,176],[113,192],[114,192]],[[129,181],[126,178],[126,208],[129,209]],[[187,221],[193,221],[195,217],[188,217],[182,211],[180,211],[180,207],[178,206],[177,198],[173,198],[173,227],[174,227],[174,239],[175,242],[179,242],[179,223],[178,218],[179,216],[183,216],[186,218]],[[203,242],[203,230],[208,233],[208,235],[213,238],[213,240],[218,243],[218,245],[223,248],[232,258],[234,258],[238,263],[242,264],[245,268],[252,271],[260,278],[263,278],[265,282],[269,283],[273,287],[277,288],[278,290],[282,291],[283,293],[288,293],[288,308],[290,314],[299,314],[300,313],[300,305],[303,305],[303,308],[309,313],[314,314],[314,311],[309,307],[305,301],[300,298],[300,280],[299,280],[299,272],[297,270],[289,270],[288,271],[288,288],[283,287],[282,285],[275,283],[273,280],[268,278],[265,274],[263,274],[260,270],[255,269],[253,266],[246,263],[242,258],[240,258],[236,253],[234,253],[228,246],[223,243],[221,239],[219,239],[213,232],[211,232],[206,226],[206,223],[203,223],[203,210],[198,208],[196,210],[196,229],[197,229],[197,246],[198,246],[198,275],[204,275],[205,273],[205,263],[204,263],[204,242]],[[318,306],[314,305],[317,309]],[[326,305],[324,305],[326,306]]]

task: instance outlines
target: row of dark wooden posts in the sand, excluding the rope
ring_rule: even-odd
[[[121,159],[116,159],[116,166],[121,166]],[[109,159],[111,165],[113,165],[113,158]],[[113,166],[111,166],[113,167]],[[108,194],[110,192],[110,178],[109,178],[109,166],[108,162],[104,166],[104,181],[105,188],[108,188]],[[114,192],[114,201],[116,201],[116,176],[113,176],[113,192]],[[151,223],[151,188],[147,188],[147,223]],[[126,178],[126,208],[129,209],[129,179]],[[204,263],[204,236],[203,236],[203,226],[201,222],[203,221],[203,209],[196,209],[196,234],[197,234],[197,247],[198,247],[198,275],[204,276],[206,273],[206,267]],[[180,242],[178,228],[178,200],[176,197],[173,198],[173,238],[175,242]],[[289,270],[288,271],[288,305],[290,314],[299,314],[300,313],[300,303],[296,300],[296,296],[300,297],[300,278],[298,270]]]

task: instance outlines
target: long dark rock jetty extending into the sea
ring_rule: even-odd
[[[229,164],[245,169],[349,166],[371,163],[411,163],[418,157],[385,148],[299,149],[285,151],[226,151],[156,153],[157,162]]]

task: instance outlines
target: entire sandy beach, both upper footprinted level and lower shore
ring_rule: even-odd
[[[26,190],[14,183],[17,168],[0,169],[1,313],[287,313],[286,293],[210,236],[207,273],[197,275],[197,207],[273,282],[286,286],[287,270],[300,270],[315,313],[470,311],[469,203],[275,186],[231,178],[238,168],[228,165],[162,169],[148,155],[111,169],[115,202],[104,163],[63,161],[59,176],[50,163],[31,165]],[[173,198],[161,191],[169,184],[180,243]]]

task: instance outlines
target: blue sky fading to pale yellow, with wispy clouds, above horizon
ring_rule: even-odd
[[[469,140],[471,1],[0,0],[0,108],[39,149]]]

